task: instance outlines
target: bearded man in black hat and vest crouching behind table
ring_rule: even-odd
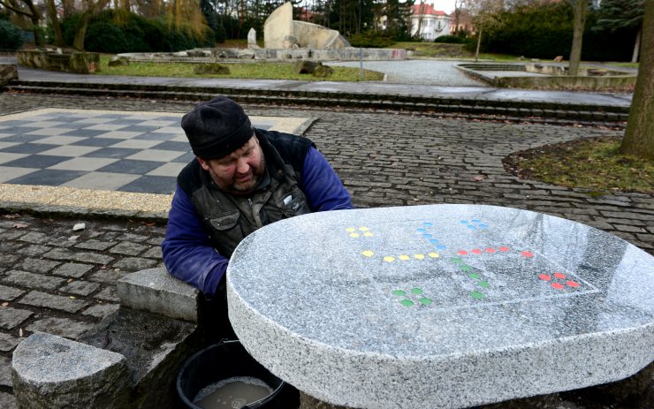
[[[224,272],[242,239],[265,224],[352,208],[350,196],[306,138],[252,127],[219,96],[182,117],[196,158],[179,173],[164,263],[172,276],[224,304]]]

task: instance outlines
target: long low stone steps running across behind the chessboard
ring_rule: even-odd
[[[0,88],[3,89],[3,88]],[[227,95],[241,103],[279,103],[321,108],[419,111],[475,119],[556,123],[559,125],[605,125],[624,127],[627,107],[588,106],[559,102],[490,101],[473,98],[443,98],[437,95],[372,95],[298,90],[244,89],[235,87],[175,87],[157,85],[52,83],[14,81],[4,87],[11,92],[32,94],[112,96],[174,101],[206,101]]]

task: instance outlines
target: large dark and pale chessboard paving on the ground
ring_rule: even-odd
[[[0,117],[0,184],[170,194],[194,158],[183,115],[45,109]],[[306,119],[251,117],[255,127],[287,133]]]

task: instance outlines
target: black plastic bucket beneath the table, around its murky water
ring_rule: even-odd
[[[186,407],[202,409],[193,403],[198,392],[232,377],[257,378],[272,390],[267,397],[240,406],[240,409],[287,409],[280,402],[285,383],[252,358],[238,340],[211,345],[186,360],[177,377],[177,392]]]

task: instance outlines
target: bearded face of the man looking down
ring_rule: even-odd
[[[245,145],[220,159],[198,158],[217,186],[227,193],[247,195],[255,191],[263,178],[266,160],[255,136]]]

